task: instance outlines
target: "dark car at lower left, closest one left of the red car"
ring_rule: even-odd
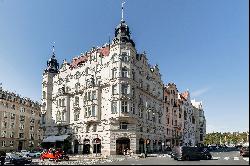
[[[21,156],[20,154],[16,153],[7,153],[5,157],[5,165],[8,164],[14,164],[14,165],[24,165],[24,164],[30,164],[32,162],[31,159],[25,158]]]

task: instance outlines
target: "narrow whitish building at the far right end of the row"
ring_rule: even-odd
[[[197,120],[195,145],[201,146],[201,145],[204,145],[205,136],[206,136],[206,118],[204,115],[202,102],[197,102],[195,100],[191,100],[191,103],[194,106],[195,119]]]

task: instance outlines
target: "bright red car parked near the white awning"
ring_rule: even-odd
[[[65,153],[62,150],[51,150],[49,149],[46,152],[43,152],[40,156],[40,160],[44,160],[44,159],[52,159],[55,161],[58,160],[69,160],[69,156],[65,155]]]

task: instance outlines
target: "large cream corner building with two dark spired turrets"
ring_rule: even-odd
[[[110,44],[66,61],[55,53],[42,83],[44,138],[69,135],[73,153],[114,155],[163,150],[163,82],[157,65],[137,53],[121,21]]]

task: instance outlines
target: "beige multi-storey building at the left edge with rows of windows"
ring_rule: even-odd
[[[40,105],[0,88],[0,150],[16,151],[39,146]]]

